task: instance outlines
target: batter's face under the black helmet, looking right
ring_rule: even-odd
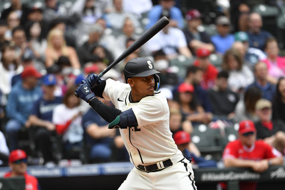
[[[154,75],[150,75],[147,77],[132,77],[132,84],[130,85],[132,87],[132,93],[134,91],[141,97],[153,96]]]

